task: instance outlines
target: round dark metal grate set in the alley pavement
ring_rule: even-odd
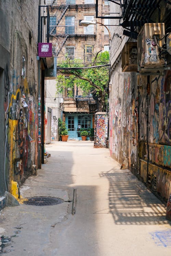
[[[31,197],[28,198],[28,200],[23,201],[23,204],[27,205],[36,205],[36,206],[46,206],[46,205],[55,205],[55,204],[61,204],[64,201],[62,199],[56,198],[56,197]]]

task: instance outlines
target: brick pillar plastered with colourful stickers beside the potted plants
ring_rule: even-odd
[[[105,112],[97,112],[94,117],[94,148],[107,146],[108,117]]]

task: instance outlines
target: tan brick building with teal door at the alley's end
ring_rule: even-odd
[[[59,0],[47,3],[50,4],[50,42],[53,44],[54,56],[57,57],[57,65],[66,57],[82,60],[86,65],[97,52],[109,51],[109,34],[103,25],[97,23],[83,27],[80,24],[82,20],[109,24],[109,20],[96,19],[95,0],[67,0],[65,3]],[[103,1],[103,7],[106,13],[109,12],[106,1]],[[80,139],[78,130],[93,126],[96,101],[92,97],[82,97],[77,86],[73,97],[68,95],[66,89],[63,98],[61,111],[70,130],[69,139]]]

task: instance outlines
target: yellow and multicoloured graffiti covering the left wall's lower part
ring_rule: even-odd
[[[37,164],[37,103],[29,94],[26,78],[23,86],[19,86],[18,77],[14,72],[12,84],[13,92],[8,91],[7,82],[4,84],[6,96],[4,106],[7,111],[5,179],[6,184],[9,184],[10,180],[21,184],[31,174],[32,165]],[[14,88],[17,88],[15,93]],[[6,106],[8,100],[9,104]],[[33,143],[35,146],[32,145]]]

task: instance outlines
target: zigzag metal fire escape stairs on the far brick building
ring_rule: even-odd
[[[63,35],[60,35],[60,36],[55,36],[52,33],[53,33],[54,29],[58,26],[60,21],[62,20],[63,16],[65,15],[65,13],[66,13],[66,11],[68,9],[68,7],[69,7],[69,5],[60,5],[57,8],[56,13],[54,14],[54,16],[56,16],[57,22],[56,22],[55,26],[53,27],[53,29],[50,31],[50,35],[56,38],[56,42],[53,45],[53,47],[56,47],[55,57],[57,57],[59,55],[59,53],[61,52],[61,50],[62,50],[66,40],[68,39],[69,35],[63,34]],[[58,41],[58,38],[60,38],[60,42]]]

